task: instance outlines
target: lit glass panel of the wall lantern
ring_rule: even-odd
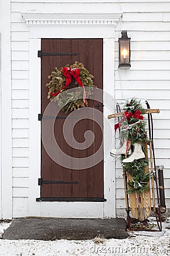
[[[121,64],[130,63],[129,43],[130,43],[129,40],[120,41],[120,63]]]

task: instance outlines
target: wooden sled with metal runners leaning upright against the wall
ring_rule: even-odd
[[[159,113],[159,109],[150,109],[150,105],[146,101],[147,109],[145,110],[145,114],[148,114],[148,137],[150,142],[145,144],[145,152],[146,156],[145,159],[148,159],[148,146],[149,146],[149,154],[150,154],[150,171],[152,174],[151,178],[151,186],[150,181],[148,181],[148,185],[151,187],[148,191],[143,191],[143,193],[127,193],[128,190],[128,181],[132,180],[132,175],[123,171],[124,177],[124,188],[125,188],[125,201],[126,201],[126,213],[127,213],[127,222],[130,228],[130,212],[134,218],[138,219],[139,221],[145,221],[148,217],[150,217],[151,210],[155,213],[156,222],[158,225],[159,230],[151,230],[146,228],[139,228],[140,230],[146,231],[162,231],[162,220],[161,220],[161,211],[160,211],[160,200],[159,200],[159,189],[158,189],[158,182],[156,177],[156,163],[155,163],[155,151],[154,151],[154,141],[153,141],[153,134],[154,134],[154,126],[152,120],[152,113]],[[111,118],[120,118],[124,117],[124,112],[120,112],[120,106],[116,105],[117,113],[108,115],[108,119]],[[120,132],[120,128],[119,128]],[[124,170],[124,167],[123,167]],[[145,168],[145,174],[149,172],[149,166],[147,165]],[[155,203],[155,191],[157,202]],[[152,207],[151,207],[151,194],[152,194]],[[138,230],[138,229],[135,229]]]

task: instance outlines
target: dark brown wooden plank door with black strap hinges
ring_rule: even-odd
[[[62,67],[66,64],[82,62],[84,67],[94,75],[94,84],[103,89],[103,40],[102,39],[41,39],[41,52],[54,53],[78,53],[78,55],[42,56],[41,57],[41,113],[44,113],[49,104],[47,98],[49,82],[48,75],[54,67]],[[102,99],[101,99],[102,100]],[[95,100],[88,100],[91,108],[97,108],[103,112],[102,107],[97,107]],[[59,116],[66,117],[69,113],[60,112]],[[94,118],[95,119],[95,118]],[[94,120],[81,119],[74,127],[74,138],[82,143],[84,133],[92,130],[95,134],[94,143],[84,150],[71,148],[63,138],[62,127],[65,118],[56,119],[54,134],[57,143],[63,152],[76,158],[86,158],[93,155],[100,146],[103,147],[103,131]],[[103,122],[103,121],[102,121]],[[50,139],[50,138],[49,138]],[[53,150],[53,149],[52,149]],[[62,156],[61,156],[62,157]],[[81,160],[80,160],[81,166]],[[51,181],[52,184],[44,184],[43,181]],[[56,183],[53,183],[55,181]],[[61,183],[59,183],[61,182]],[[70,183],[71,182],[71,183]],[[47,182],[48,183],[48,182]],[[43,200],[83,200],[103,199],[103,152],[101,162],[84,170],[73,170],[55,163],[44,149],[41,143],[41,199]]]

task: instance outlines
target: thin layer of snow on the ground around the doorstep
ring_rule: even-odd
[[[150,219],[151,222],[152,218]],[[10,223],[0,223],[3,233]],[[100,240],[100,243],[99,243]],[[145,256],[170,255],[170,218],[163,222],[163,232],[129,232],[122,240],[98,239],[82,241],[38,241],[38,240],[0,240],[0,255],[24,256]]]

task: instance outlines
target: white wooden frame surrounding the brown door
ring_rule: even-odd
[[[28,215],[41,217],[103,218],[116,216],[115,166],[109,156],[107,115],[114,111],[114,26],[120,14],[70,14],[59,18],[45,14],[22,14],[29,25],[29,194]],[[95,20],[93,20],[95,16]],[[71,25],[71,29],[70,29]],[[103,90],[104,94],[104,198],[105,202],[36,202],[40,197],[41,177],[41,38],[103,38]],[[111,82],[112,81],[112,82]],[[107,102],[110,101],[110,102]],[[113,122],[110,124],[113,126]]]

